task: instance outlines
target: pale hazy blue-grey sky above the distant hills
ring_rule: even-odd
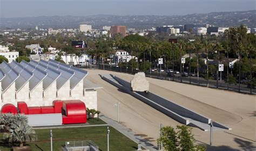
[[[186,15],[255,10],[256,0],[0,0],[0,17]]]

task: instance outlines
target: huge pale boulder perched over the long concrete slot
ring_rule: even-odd
[[[131,80],[132,91],[149,91],[149,81],[146,80],[145,73],[139,72],[134,75],[133,80]]]

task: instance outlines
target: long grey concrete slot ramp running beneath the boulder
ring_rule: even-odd
[[[103,80],[111,83],[112,85],[116,86],[117,88],[124,90],[128,94],[132,95],[133,97],[136,97],[139,100],[142,100],[142,102],[146,103],[147,105],[150,105],[154,107],[154,109],[157,109],[160,112],[163,112],[167,116],[179,121],[182,124],[198,127],[200,130],[208,131],[210,130],[210,123],[211,119],[207,118],[197,112],[194,112],[190,109],[187,109],[184,106],[178,105],[170,100],[167,100],[163,97],[160,97],[156,94],[153,94],[152,92],[134,92],[131,91],[130,83],[122,80],[121,78],[106,74],[101,75]],[[213,128],[215,130],[231,130],[231,128],[217,123],[213,121]]]

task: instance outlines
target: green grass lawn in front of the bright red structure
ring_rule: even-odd
[[[35,130],[37,141],[29,143],[32,150],[50,150],[50,129]],[[65,146],[65,141],[73,140],[92,140],[100,150],[107,150],[107,135],[106,126],[99,127],[79,127],[79,128],[58,128],[52,129],[53,134],[53,150],[62,150]],[[0,133],[0,150],[10,151],[11,148],[4,144],[2,138],[3,133]],[[136,150],[137,143],[133,142],[125,135],[119,133],[114,128],[110,127],[110,150]]]

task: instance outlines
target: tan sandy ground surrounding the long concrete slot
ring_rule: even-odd
[[[180,125],[176,120],[144,104],[140,100],[118,90],[102,80],[99,74],[114,74],[126,81],[132,75],[106,70],[88,70],[87,79],[103,87],[98,89],[98,110],[105,116],[117,119],[117,109],[113,104],[120,102],[120,123],[143,136],[155,145],[159,138],[159,127]],[[214,131],[213,146],[209,150],[253,150],[256,149],[256,98],[237,92],[217,90],[178,82],[147,78],[150,91],[166,99],[183,105],[204,116],[228,125],[231,131]],[[208,145],[210,132],[193,128],[197,143]]]

